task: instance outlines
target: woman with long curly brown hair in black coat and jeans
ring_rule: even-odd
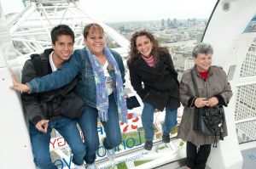
[[[132,35],[129,57],[127,65],[131,85],[144,104],[144,148],[150,150],[153,146],[155,109],[166,108],[165,122],[162,126],[164,143],[170,142],[170,132],[177,124],[177,108],[180,106],[177,71],[174,69],[168,49],[160,47],[148,31],[138,31]]]

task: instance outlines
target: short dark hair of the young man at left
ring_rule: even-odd
[[[57,25],[50,31],[51,42],[55,44],[58,37],[61,35],[67,35],[72,37],[74,42],[74,33],[68,25]]]

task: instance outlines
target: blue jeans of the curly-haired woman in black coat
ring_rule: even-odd
[[[153,141],[154,137],[154,127],[153,127],[153,121],[154,121],[154,106],[151,104],[148,104],[146,102],[143,102],[143,115],[142,115],[142,121],[143,121],[143,128],[144,128],[144,135],[145,139],[147,141]],[[165,122],[162,126],[162,131],[165,135],[168,135],[172,127],[175,127],[177,124],[177,109],[176,110],[170,110],[166,107],[166,117]]]

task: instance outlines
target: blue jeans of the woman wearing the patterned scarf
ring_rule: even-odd
[[[106,138],[103,141],[105,149],[113,149],[122,141],[119,113],[113,94],[108,97],[108,121],[102,121]],[[96,160],[96,150],[99,148],[99,136],[97,130],[98,110],[85,106],[84,113],[79,117],[79,126],[84,134],[84,144],[86,145],[86,155],[84,161],[88,164]]]

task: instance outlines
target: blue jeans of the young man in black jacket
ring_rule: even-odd
[[[84,163],[85,147],[80,137],[77,121],[61,116],[54,121],[49,121],[47,133],[39,132],[32,122],[29,125],[30,138],[34,161],[40,169],[57,169],[51,162],[49,154],[50,132],[55,128],[67,141],[73,153],[73,163],[82,165]]]

